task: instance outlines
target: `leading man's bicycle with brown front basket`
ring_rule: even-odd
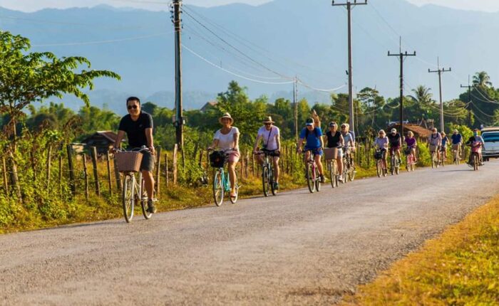
[[[140,172],[140,162],[142,161],[142,152],[149,152],[146,147],[132,149],[131,151],[118,150],[115,152],[115,160],[118,164],[118,170],[123,173],[123,192],[121,202],[123,206],[123,215],[125,221],[130,223],[135,212],[135,204],[140,201],[142,214],[148,220],[153,214],[150,213],[148,206],[148,194],[145,192],[145,183]],[[136,177],[138,173],[138,178]],[[140,184],[138,183],[140,181]],[[153,196],[153,201],[158,201]]]

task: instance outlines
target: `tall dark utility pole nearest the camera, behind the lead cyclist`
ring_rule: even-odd
[[[175,137],[178,148],[183,152],[184,136],[182,115],[182,0],[173,0],[173,26],[175,28]],[[182,153],[183,156],[183,153]]]

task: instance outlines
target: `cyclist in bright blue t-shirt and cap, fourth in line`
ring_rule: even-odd
[[[299,140],[297,144],[297,150],[299,153],[302,152],[302,145],[304,141],[307,142],[307,144],[305,144],[305,149],[311,150],[312,154],[314,154],[314,160],[317,164],[317,169],[319,169],[321,183],[324,183],[324,174],[322,172],[321,162],[322,149],[324,149],[324,139],[322,139],[321,128],[314,126],[314,118],[307,119],[306,126],[299,134]],[[310,154],[310,152],[307,152],[307,158],[308,154]]]

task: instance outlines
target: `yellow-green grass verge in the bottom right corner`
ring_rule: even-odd
[[[499,305],[499,196],[341,305]]]

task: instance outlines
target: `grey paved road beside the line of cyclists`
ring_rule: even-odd
[[[0,236],[0,305],[331,304],[484,204],[498,170],[423,169]]]

